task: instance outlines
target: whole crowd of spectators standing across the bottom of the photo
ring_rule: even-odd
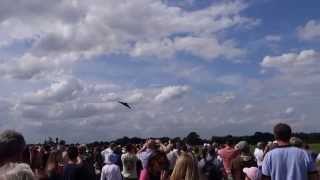
[[[191,146],[148,139],[106,147],[64,141],[26,145],[13,130],[0,134],[0,180],[316,180],[320,155],[279,123],[273,142]]]

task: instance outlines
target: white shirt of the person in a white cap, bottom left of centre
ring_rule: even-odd
[[[122,180],[119,166],[115,164],[106,164],[101,171],[100,180]]]

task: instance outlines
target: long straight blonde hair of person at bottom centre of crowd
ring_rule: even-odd
[[[199,180],[198,165],[191,154],[179,156],[170,180]]]

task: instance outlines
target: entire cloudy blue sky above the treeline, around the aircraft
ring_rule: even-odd
[[[316,132],[319,8],[318,0],[1,0],[0,131],[27,142],[249,135],[278,122]]]

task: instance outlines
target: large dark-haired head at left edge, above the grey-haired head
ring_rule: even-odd
[[[0,134],[0,163],[5,161],[19,161],[22,158],[26,142],[24,137],[13,130],[6,130]]]

